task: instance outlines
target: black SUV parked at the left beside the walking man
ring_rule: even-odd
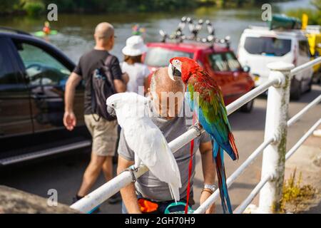
[[[73,63],[23,31],[0,28],[0,166],[91,145],[76,89],[77,128],[63,126],[63,93]]]

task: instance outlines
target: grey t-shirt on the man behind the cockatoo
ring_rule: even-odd
[[[185,117],[175,117],[172,120],[165,120],[163,118],[152,118],[153,123],[155,123],[158,128],[161,129],[163,135],[165,136],[167,142],[178,138],[178,136],[185,133],[191,123],[188,118]],[[192,177],[190,180],[190,190],[193,190],[193,177],[195,175],[195,152],[198,150],[200,143],[210,141],[210,136],[208,133],[203,133],[200,137],[195,138],[194,150],[193,150],[193,168]],[[118,145],[118,154],[125,158],[126,160],[134,160],[134,152],[128,147],[123,130],[121,130],[121,138]],[[188,166],[190,162],[190,143],[180,148],[174,154],[175,160],[178,164],[180,170],[180,180],[182,182],[182,187],[180,188],[180,199],[184,199],[187,195],[188,187]],[[161,182],[156,178],[151,172],[146,172],[141,177],[138,178],[135,184],[136,190],[148,199],[153,199],[155,201],[168,201],[171,200],[170,190],[168,184]]]

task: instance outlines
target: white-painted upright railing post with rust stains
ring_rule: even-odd
[[[260,191],[260,213],[273,213],[280,208],[285,171],[290,70],[294,66],[276,62],[267,64],[267,68],[270,68],[270,79],[278,78],[280,83],[271,86],[267,95],[265,140],[273,136],[276,140],[263,151],[261,178],[272,175],[272,180],[268,181]]]

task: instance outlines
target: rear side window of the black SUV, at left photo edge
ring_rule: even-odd
[[[0,90],[9,88],[9,85],[21,83],[17,77],[18,73],[7,40],[0,38]]]

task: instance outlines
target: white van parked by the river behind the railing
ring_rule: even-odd
[[[255,86],[259,86],[269,76],[267,63],[284,61],[300,66],[310,61],[310,49],[300,30],[277,31],[252,26],[240,37],[238,60],[243,66],[250,67]],[[312,72],[309,68],[292,78],[291,98],[298,100],[303,92],[311,90]]]

